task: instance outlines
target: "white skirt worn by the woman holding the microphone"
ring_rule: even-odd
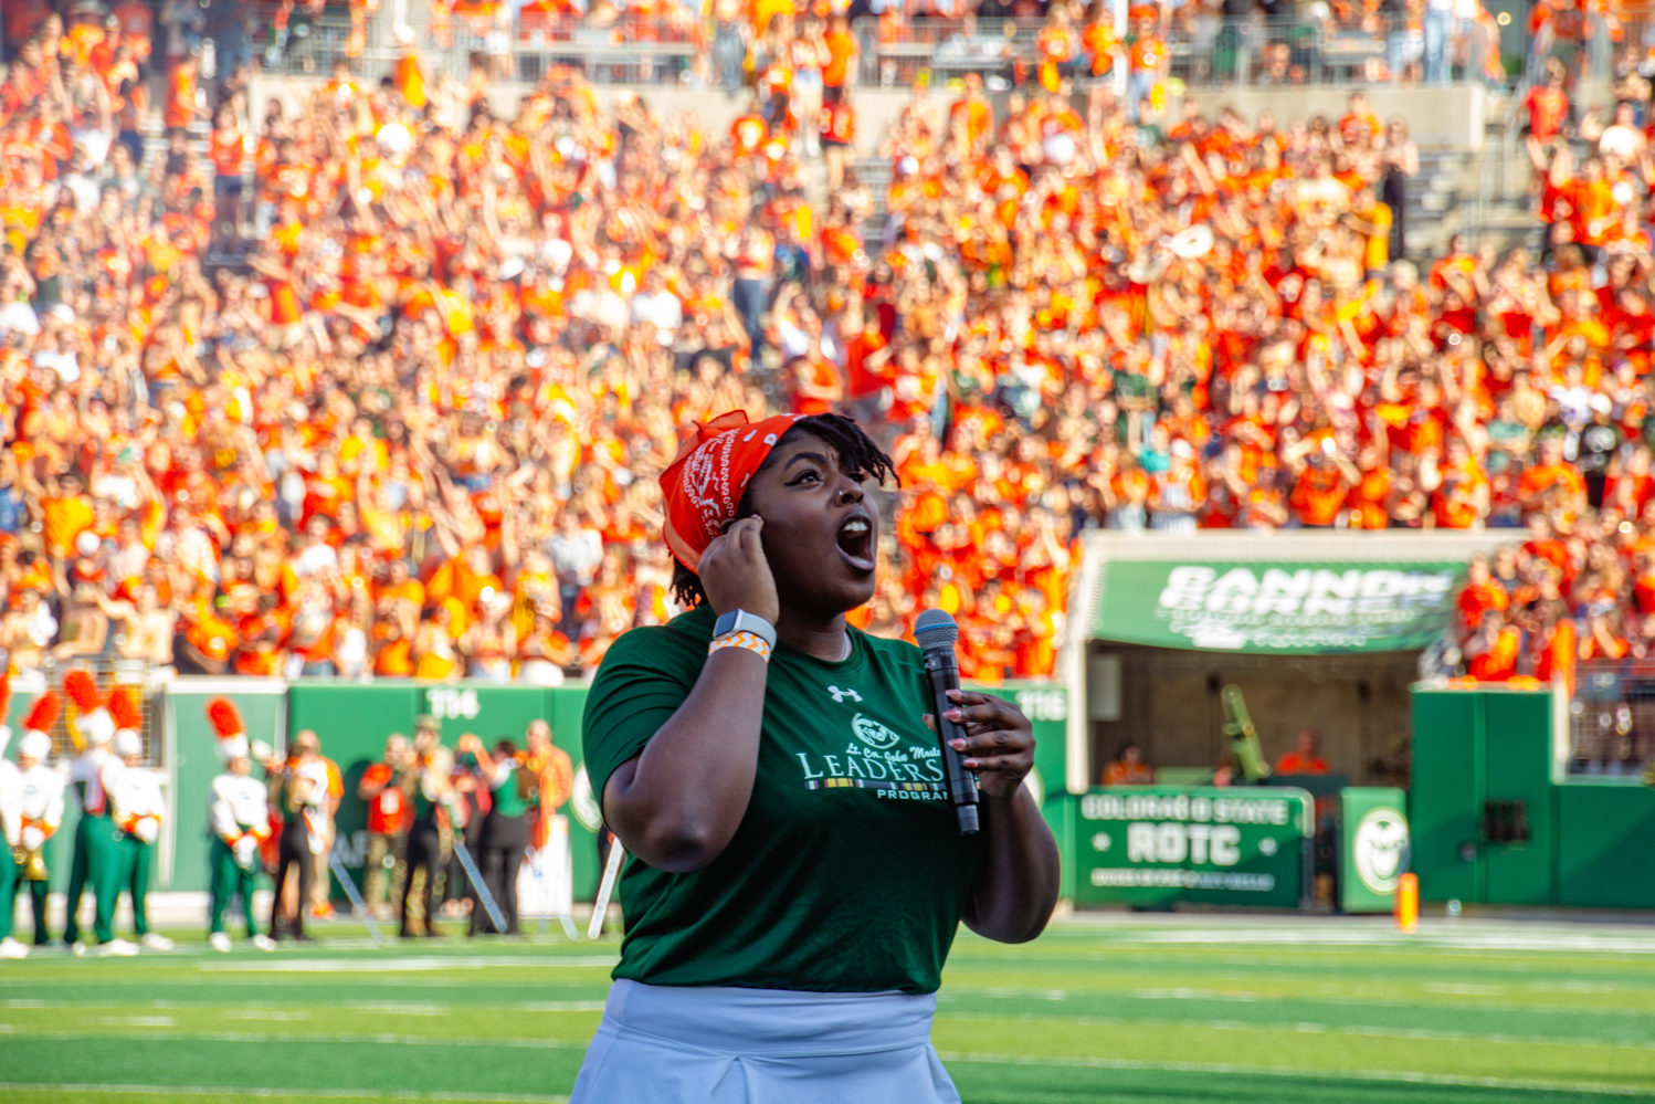
[[[960,1104],[937,995],[619,980],[569,1104]]]

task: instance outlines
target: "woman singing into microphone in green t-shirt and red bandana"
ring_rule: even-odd
[[[573,1104],[940,1104],[930,1044],[960,920],[1034,938],[1058,847],[1023,776],[1029,722],[952,715],[981,783],[962,836],[920,652],[846,626],[874,594],[892,475],[849,419],[740,412],[660,477],[688,612],[621,636],[586,705],[586,768],[632,856],[627,932]]]

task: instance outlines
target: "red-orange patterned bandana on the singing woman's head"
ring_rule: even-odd
[[[660,473],[667,500],[662,535],[679,563],[700,571],[702,553],[723,531],[725,521],[735,520],[753,472],[798,419],[798,414],[778,414],[748,422],[745,410],[730,410],[695,427],[679,449],[679,458]]]

